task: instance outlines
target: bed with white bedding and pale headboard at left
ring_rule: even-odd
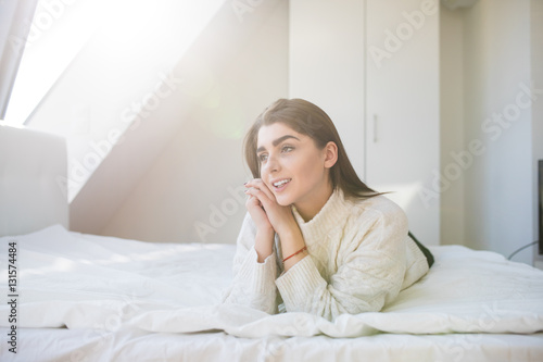
[[[36,160],[13,149],[28,138],[27,148],[43,141],[51,150],[36,171],[39,187],[13,183],[37,182]],[[65,149],[51,142],[63,145],[0,127],[0,200],[9,203],[0,209],[2,361],[543,361],[542,271],[490,251],[439,246],[430,247],[435,264],[428,275],[378,313],[329,322],[222,304],[236,246],[70,232],[67,205],[51,204],[65,203],[51,198],[61,188],[45,180],[65,175]],[[23,223],[15,210],[20,184],[24,198],[49,205],[27,210],[36,223]],[[54,190],[45,196],[43,185]],[[39,217],[47,209],[55,220]]]

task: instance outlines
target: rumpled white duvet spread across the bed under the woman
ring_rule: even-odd
[[[459,246],[432,247],[427,276],[379,313],[334,322],[305,313],[268,315],[222,305],[235,246],[150,244],[70,233],[52,226],[0,238],[8,290],[8,244],[17,242],[17,327],[263,336],[356,337],[376,333],[446,334],[543,330],[543,272]],[[10,327],[0,305],[0,327]]]

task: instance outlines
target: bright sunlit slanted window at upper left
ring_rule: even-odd
[[[70,201],[223,2],[38,1],[5,121],[66,138]]]

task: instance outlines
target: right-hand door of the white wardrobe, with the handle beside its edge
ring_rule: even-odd
[[[366,182],[394,192],[428,245],[439,244],[439,1],[366,0]]]

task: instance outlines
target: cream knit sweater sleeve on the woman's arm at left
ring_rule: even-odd
[[[238,236],[233,257],[233,279],[223,295],[223,303],[243,304],[266,313],[277,313],[277,277],[276,252],[258,263],[254,249],[256,227],[249,215],[245,215]]]

